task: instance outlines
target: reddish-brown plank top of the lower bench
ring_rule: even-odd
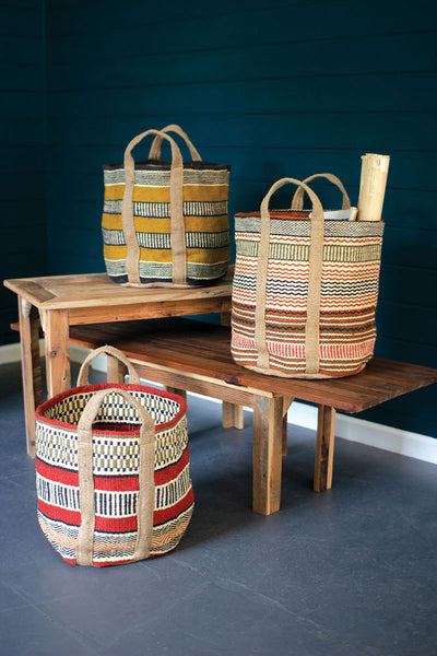
[[[374,358],[362,373],[344,378],[260,374],[234,362],[228,327],[185,318],[72,326],[70,341],[87,348],[111,344],[137,360],[329,406],[349,414],[437,382],[435,368],[383,358]]]

